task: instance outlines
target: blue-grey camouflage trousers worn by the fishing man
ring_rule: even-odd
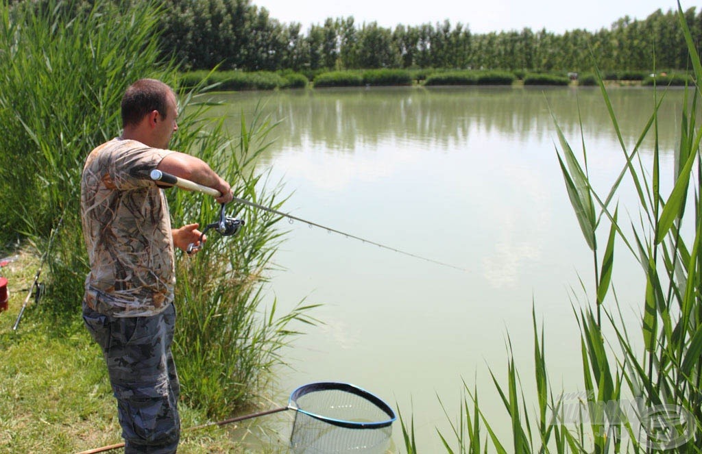
[[[117,318],[83,303],[83,319],[102,347],[117,399],[125,453],[175,453],[180,439],[180,384],[171,355],[176,309]]]

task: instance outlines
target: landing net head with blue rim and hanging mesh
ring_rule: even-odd
[[[291,434],[296,454],[384,453],[395,413],[373,394],[352,385],[319,383],[296,390]]]

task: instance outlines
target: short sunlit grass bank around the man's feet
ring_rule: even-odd
[[[102,354],[78,310],[67,314],[73,323],[59,326],[46,312],[44,301],[53,298],[46,294],[13,331],[39,258],[29,248],[11,255],[17,259],[0,269],[10,292],[9,309],[0,312],[0,453],[75,453],[121,442]],[[204,411],[186,403],[180,411],[184,429],[208,422]],[[230,429],[185,431],[178,452],[244,452]]]

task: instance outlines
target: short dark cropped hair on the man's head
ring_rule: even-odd
[[[156,79],[135,81],[122,97],[122,127],[137,125],[145,115],[154,110],[166,118],[168,93],[173,93],[171,87]]]

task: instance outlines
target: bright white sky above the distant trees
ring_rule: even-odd
[[[353,16],[357,26],[378,22],[381,27],[422,25],[451,21],[468,25],[472,33],[521,30],[536,32],[545,27],[562,34],[576,28],[596,31],[628,15],[645,19],[658,8],[667,12],[677,9],[675,0],[251,0],[266,8],[270,17],[280,22],[300,22],[303,32],[310,25],[322,25],[326,18]],[[700,7],[693,0],[681,0],[683,11]]]

